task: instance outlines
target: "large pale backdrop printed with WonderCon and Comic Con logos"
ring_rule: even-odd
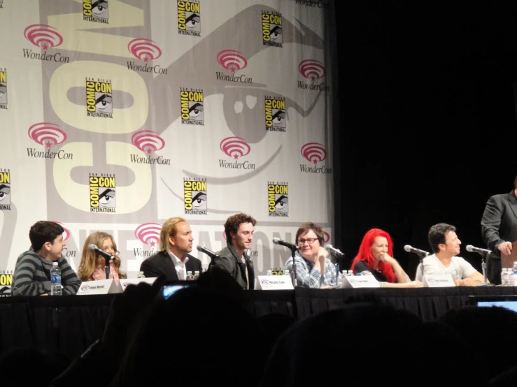
[[[129,277],[185,217],[194,251],[257,219],[279,268],[304,221],[332,235],[330,0],[0,0],[0,285],[35,221],[74,270],[113,235]],[[335,57],[335,55],[334,55]]]

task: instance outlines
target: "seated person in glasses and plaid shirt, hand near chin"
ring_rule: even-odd
[[[284,270],[296,275],[297,286],[303,288],[325,289],[337,284],[337,269],[323,248],[323,228],[306,222],[298,228],[296,242],[299,250],[295,254],[296,268],[292,257],[285,263]],[[339,282],[339,279],[338,279]]]

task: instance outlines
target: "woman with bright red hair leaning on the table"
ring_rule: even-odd
[[[404,269],[393,258],[390,234],[372,228],[362,238],[359,253],[352,262],[354,274],[369,272],[386,288],[420,288],[420,281],[411,281]]]

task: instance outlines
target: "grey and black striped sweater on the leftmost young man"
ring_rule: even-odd
[[[57,264],[61,269],[63,294],[76,294],[80,279],[72,270],[66,258],[59,258]],[[41,295],[50,293],[50,268],[52,261],[43,258],[34,251],[25,251],[16,260],[13,277],[13,295]]]

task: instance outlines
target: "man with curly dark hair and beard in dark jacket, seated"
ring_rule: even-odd
[[[255,219],[246,214],[236,214],[229,217],[225,223],[227,247],[218,251],[219,258],[208,266],[229,272],[242,289],[255,289],[255,271],[250,256],[246,250],[251,247]]]

